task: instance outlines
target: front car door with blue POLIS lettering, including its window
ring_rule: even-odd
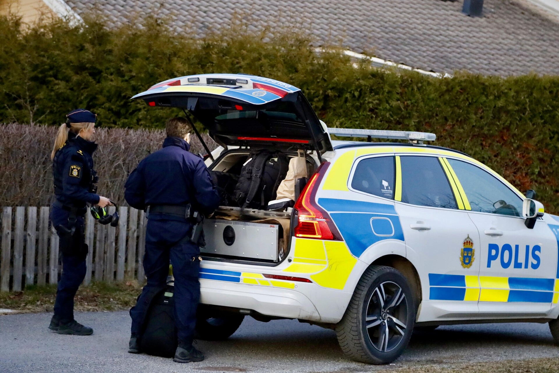
[[[448,158],[480,232],[480,318],[545,317],[551,309],[557,240],[538,219],[524,225],[523,197],[479,165]]]

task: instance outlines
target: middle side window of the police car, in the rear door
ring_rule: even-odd
[[[446,174],[435,157],[400,157],[402,202],[411,205],[457,209]]]

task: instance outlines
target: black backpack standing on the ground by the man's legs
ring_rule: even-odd
[[[178,338],[173,316],[173,290],[174,286],[167,285],[158,289],[151,298],[141,331],[141,352],[162,357],[174,356]]]

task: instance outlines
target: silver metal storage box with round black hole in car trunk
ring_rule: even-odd
[[[278,260],[280,224],[206,219],[203,226],[206,246],[200,248],[202,253],[265,261]]]

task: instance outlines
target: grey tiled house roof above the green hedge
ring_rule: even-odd
[[[66,2],[79,15],[100,10],[110,25],[157,7],[145,0]],[[484,17],[461,10],[462,1],[441,0],[167,0],[159,14],[202,35],[235,12],[246,12],[272,30],[302,25],[321,40],[341,37],[350,50],[435,72],[559,75],[555,18],[513,0],[485,0]]]

